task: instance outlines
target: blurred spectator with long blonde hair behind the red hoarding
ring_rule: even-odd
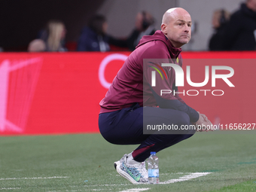
[[[64,41],[66,37],[66,27],[59,20],[50,20],[47,23],[47,51],[66,51]]]

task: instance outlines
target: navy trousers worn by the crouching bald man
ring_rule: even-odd
[[[193,136],[195,130],[185,130],[183,134],[143,134],[143,123],[166,125],[190,125],[189,116],[169,108],[140,107],[134,104],[130,108],[99,114],[99,131],[108,142],[117,145],[140,144],[133,151],[133,158],[143,162],[151,151],[161,151]],[[164,130],[163,130],[164,131]]]

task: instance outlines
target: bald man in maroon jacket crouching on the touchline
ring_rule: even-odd
[[[148,125],[182,126],[212,125],[206,115],[190,108],[178,94],[160,94],[160,90],[174,90],[175,71],[170,66],[151,62],[155,59],[182,66],[181,46],[191,38],[191,17],[183,8],[172,8],[163,14],[161,30],[146,35],[136,50],[128,56],[117,72],[105,98],[99,103],[99,130],[104,139],[115,145],[138,145],[130,154],[114,162],[117,172],[133,184],[147,183],[145,160],[151,151],[161,151],[184,139],[194,130],[156,130],[144,133]],[[149,59],[150,62],[143,62]],[[156,69],[157,86],[151,86],[151,75]]]

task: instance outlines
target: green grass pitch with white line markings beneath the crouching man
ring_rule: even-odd
[[[196,133],[157,153],[160,181],[190,172],[211,174],[140,185],[117,175],[113,166],[137,145],[112,145],[100,134],[0,137],[0,191],[256,191],[255,136]]]

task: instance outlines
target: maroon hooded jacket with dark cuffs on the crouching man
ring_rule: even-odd
[[[191,122],[199,119],[199,114],[175,94],[163,94],[160,90],[176,90],[175,71],[161,63],[181,64],[181,48],[173,47],[171,41],[161,31],[145,35],[136,50],[128,56],[117,72],[105,98],[99,103],[100,113],[129,108],[134,103],[140,106],[173,108],[186,112]],[[157,72],[157,69],[159,72]],[[156,85],[151,86],[152,71],[156,71]]]

